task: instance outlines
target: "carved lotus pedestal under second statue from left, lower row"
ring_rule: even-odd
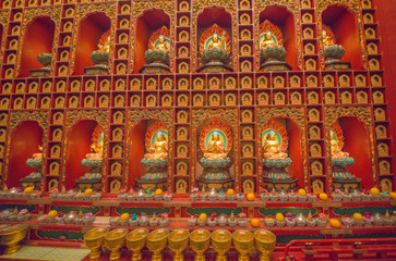
[[[101,160],[83,159],[81,165],[91,167],[80,179],[75,181],[75,186],[79,190],[85,191],[91,188],[94,191],[101,190]]]

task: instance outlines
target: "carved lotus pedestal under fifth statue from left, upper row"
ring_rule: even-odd
[[[262,49],[260,71],[290,71],[291,66],[285,61],[286,54],[285,48],[279,46]]]

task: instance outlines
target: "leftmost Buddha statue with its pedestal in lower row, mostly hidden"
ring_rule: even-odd
[[[21,187],[34,187],[35,189],[40,188],[40,179],[41,179],[41,164],[43,164],[43,147],[38,146],[38,151],[32,156],[31,159],[26,161],[26,165],[36,167],[34,172],[28,174],[27,176],[20,179]]]

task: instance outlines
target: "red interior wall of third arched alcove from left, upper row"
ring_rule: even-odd
[[[139,73],[139,70],[146,63],[144,53],[147,50],[148,39],[154,32],[163,26],[170,28],[170,17],[161,9],[146,10],[137,17],[133,50],[133,73]]]

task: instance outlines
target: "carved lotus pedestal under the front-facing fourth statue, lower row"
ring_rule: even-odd
[[[233,178],[229,174],[230,158],[219,160],[201,159],[201,164],[204,166],[203,174],[197,178],[197,186],[206,191],[227,190],[233,188]]]

